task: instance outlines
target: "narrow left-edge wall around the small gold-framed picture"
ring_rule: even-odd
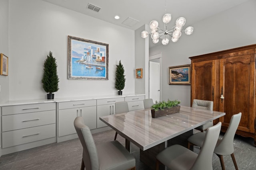
[[[8,9],[9,9],[8,0],[1,0],[0,1],[0,23],[1,23],[0,53],[3,53],[4,55],[6,55],[10,61],[12,57],[9,56]],[[10,70],[10,67],[9,67],[9,70]],[[1,86],[0,102],[6,102],[9,100],[9,77],[10,77],[10,72],[9,72],[9,76],[0,75],[0,86]]]

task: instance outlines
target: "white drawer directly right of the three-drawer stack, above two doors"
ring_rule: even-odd
[[[60,109],[71,109],[77,107],[87,107],[87,106],[96,106],[96,100],[80,100],[80,101],[71,101],[71,102],[60,102]]]

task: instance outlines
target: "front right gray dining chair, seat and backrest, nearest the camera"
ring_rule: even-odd
[[[172,145],[156,156],[156,170],[161,162],[172,170],[212,170],[212,155],[220,134],[221,122],[209,127],[199,154],[181,146]]]

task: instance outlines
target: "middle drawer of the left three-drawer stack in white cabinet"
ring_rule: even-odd
[[[12,131],[56,123],[56,111],[39,111],[2,116],[2,131]]]

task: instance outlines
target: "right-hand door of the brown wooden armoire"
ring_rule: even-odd
[[[232,115],[242,112],[238,130],[254,133],[255,57],[242,55],[220,59],[220,111],[226,115],[220,120],[228,127]]]

